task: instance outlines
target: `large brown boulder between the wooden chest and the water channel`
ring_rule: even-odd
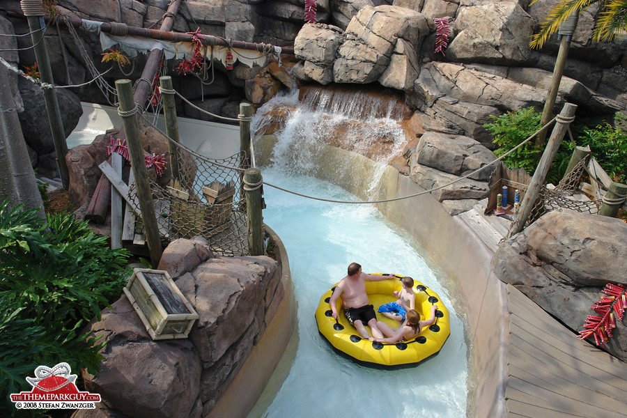
[[[203,416],[213,408],[283,298],[277,262],[265,256],[210,258],[176,281],[199,320],[189,334],[203,361]]]

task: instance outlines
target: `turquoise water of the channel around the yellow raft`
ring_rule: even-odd
[[[262,170],[265,181],[287,189],[357,200],[330,183],[285,172]],[[288,251],[297,335],[288,348],[291,354],[284,357],[250,417],[465,417],[468,367],[463,320],[451,303],[455,297],[449,295],[447,279],[431,270],[424,250],[373,206],[314,201],[268,186],[264,196],[268,205],[264,222]],[[382,371],[334,353],[318,333],[314,311],[320,295],[346,274],[353,261],[364,272],[409,275],[440,295],[451,314],[451,336],[439,355],[411,369]]]

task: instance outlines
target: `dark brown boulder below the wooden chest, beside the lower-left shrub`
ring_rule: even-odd
[[[85,387],[129,418],[187,418],[200,393],[202,364],[188,340],[152,341],[126,296],[89,327],[107,346]]]

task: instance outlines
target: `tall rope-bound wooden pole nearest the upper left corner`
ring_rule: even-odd
[[[50,60],[48,58],[48,49],[46,40],[41,29],[40,17],[43,17],[42,2],[40,0],[22,0],[20,2],[24,16],[29,22],[31,31],[31,39],[33,40],[33,49],[35,50],[35,58],[37,59],[38,69],[41,81],[47,84],[53,84],[52,69],[50,68]],[[59,110],[59,101],[56,100],[56,92],[54,88],[43,88],[44,99],[46,101],[46,109],[48,110],[48,122],[52,131],[52,141],[54,141],[54,151],[56,153],[56,161],[59,164],[59,172],[61,173],[61,181],[63,188],[70,187],[70,173],[68,164],[65,162],[65,154],[68,153],[68,143],[65,142],[65,130],[63,130],[63,119],[61,119],[61,111]]]

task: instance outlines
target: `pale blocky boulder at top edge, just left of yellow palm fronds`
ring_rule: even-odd
[[[458,62],[524,65],[534,20],[513,1],[460,7],[453,26],[455,38],[447,58]]]

